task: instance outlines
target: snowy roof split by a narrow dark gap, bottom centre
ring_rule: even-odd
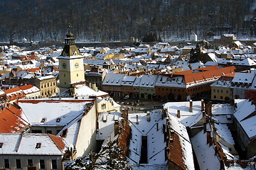
[[[137,115],[139,124],[137,124]],[[166,124],[166,118],[161,119],[161,113],[154,111],[150,113],[150,121],[146,120],[146,113],[129,114],[131,122],[132,138],[129,143],[129,163],[139,164],[142,136],[147,136],[148,164],[166,164],[164,132],[161,130]],[[159,130],[156,129],[158,123]]]

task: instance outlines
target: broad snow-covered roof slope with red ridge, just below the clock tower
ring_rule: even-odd
[[[81,117],[85,104],[92,103],[87,99],[37,99],[19,100],[20,106],[33,126],[65,126],[72,120]]]

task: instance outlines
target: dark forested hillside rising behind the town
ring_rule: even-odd
[[[162,40],[256,35],[255,0],[0,0],[0,41],[128,41],[156,33]]]

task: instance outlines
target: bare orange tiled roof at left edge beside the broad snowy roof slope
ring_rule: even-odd
[[[2,108],[0,111],[0,133],[16,133],[28,126],[26,120],[22,119],[22,111],[13,105]]]

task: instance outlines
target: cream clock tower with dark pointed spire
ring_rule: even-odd
[[[82,84],[85,82],[83,56],[75,46],[75,38],[70,30],[68,30],[68,34],[65,38],[65,46],[58,60],[60,92],[70,89],[74,84]]]

